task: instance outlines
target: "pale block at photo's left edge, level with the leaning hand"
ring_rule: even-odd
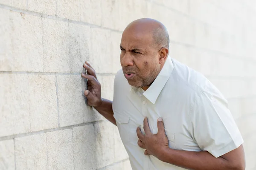
[[[30,131],[27,74],[0,74],[0,136]]]

